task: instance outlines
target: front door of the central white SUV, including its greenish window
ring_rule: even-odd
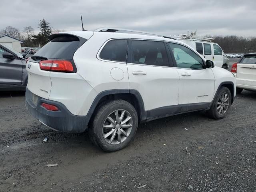
[[[204,68],[203,59],[187,46],[168,43],[180,76],[178,104],[180,112],[198,110],[210,105],[214,94],[214,74]]]

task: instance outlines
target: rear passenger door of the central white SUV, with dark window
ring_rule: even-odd
[[[129,40],[129,88],[142,96],[148,119],[178,110],[179,75],[170,67],[170,52],[166,48],[161,41]]]

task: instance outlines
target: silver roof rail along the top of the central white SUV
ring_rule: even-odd
[[[150,36],[164,37],[164,38],[169,38],[169,39],[174,39],[174,40],[176,40],[176,38],[173,38],[173,37],[163,36],[163,35],[159,35],[159,34],[152,34],[152,33],[150,33],[150,32],[145,32],[145,31],[123,29],[123,28],[102,27],[102,28],[98,28],[98,29],[96,29],[96,30],[94,30],[94,31],[98,31],[98,32],[118,32],[118,31],[125,31],[126,33],[140,33],[140,34],[145,34],[145,35],[150,35]]]

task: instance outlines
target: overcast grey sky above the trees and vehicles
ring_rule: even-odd
[[[103,26],[163,35],[256,36],[256,0],[1,0],[0,30],[32,26],[42,18],[52,28],[86,30]]]

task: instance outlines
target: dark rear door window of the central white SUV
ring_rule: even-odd
[[[164,42],[133,40],[132,63],[169,66]]]

